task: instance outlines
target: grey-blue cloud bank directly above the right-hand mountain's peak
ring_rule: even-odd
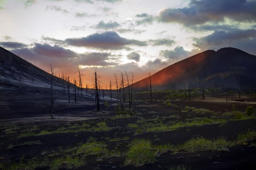
[[[230,31],[214,31],[201,38],[194,38],[195,47],[202,50],[235,47],[256,54],[256,29],[233,29]]]

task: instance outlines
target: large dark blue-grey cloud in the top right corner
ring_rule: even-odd
[[[223,21],[225,17],[242,22],[255,21],[255,8],[255,0],[190,0],[188,7],[163,9],[158,20],[186,26]]]

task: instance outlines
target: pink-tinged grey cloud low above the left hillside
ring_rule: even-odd
[[[78,65],[116,65],[116,63],[105,61],[110,59],[110,53],[78,54],[58,45],[35,43],[32,48],[17,48],[11,51],[14,54],[19,54],[20,57],[31,59],[33,63],[40,63],[41,67],[45,68],[48,68],[49,64],[65,70],[73,70]]]

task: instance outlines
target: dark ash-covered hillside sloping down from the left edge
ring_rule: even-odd
[[[0,47],[1,88],[49,88],[50,78],[51,74]],[[61,88],[64,80],[54,76],[53,82]]]

